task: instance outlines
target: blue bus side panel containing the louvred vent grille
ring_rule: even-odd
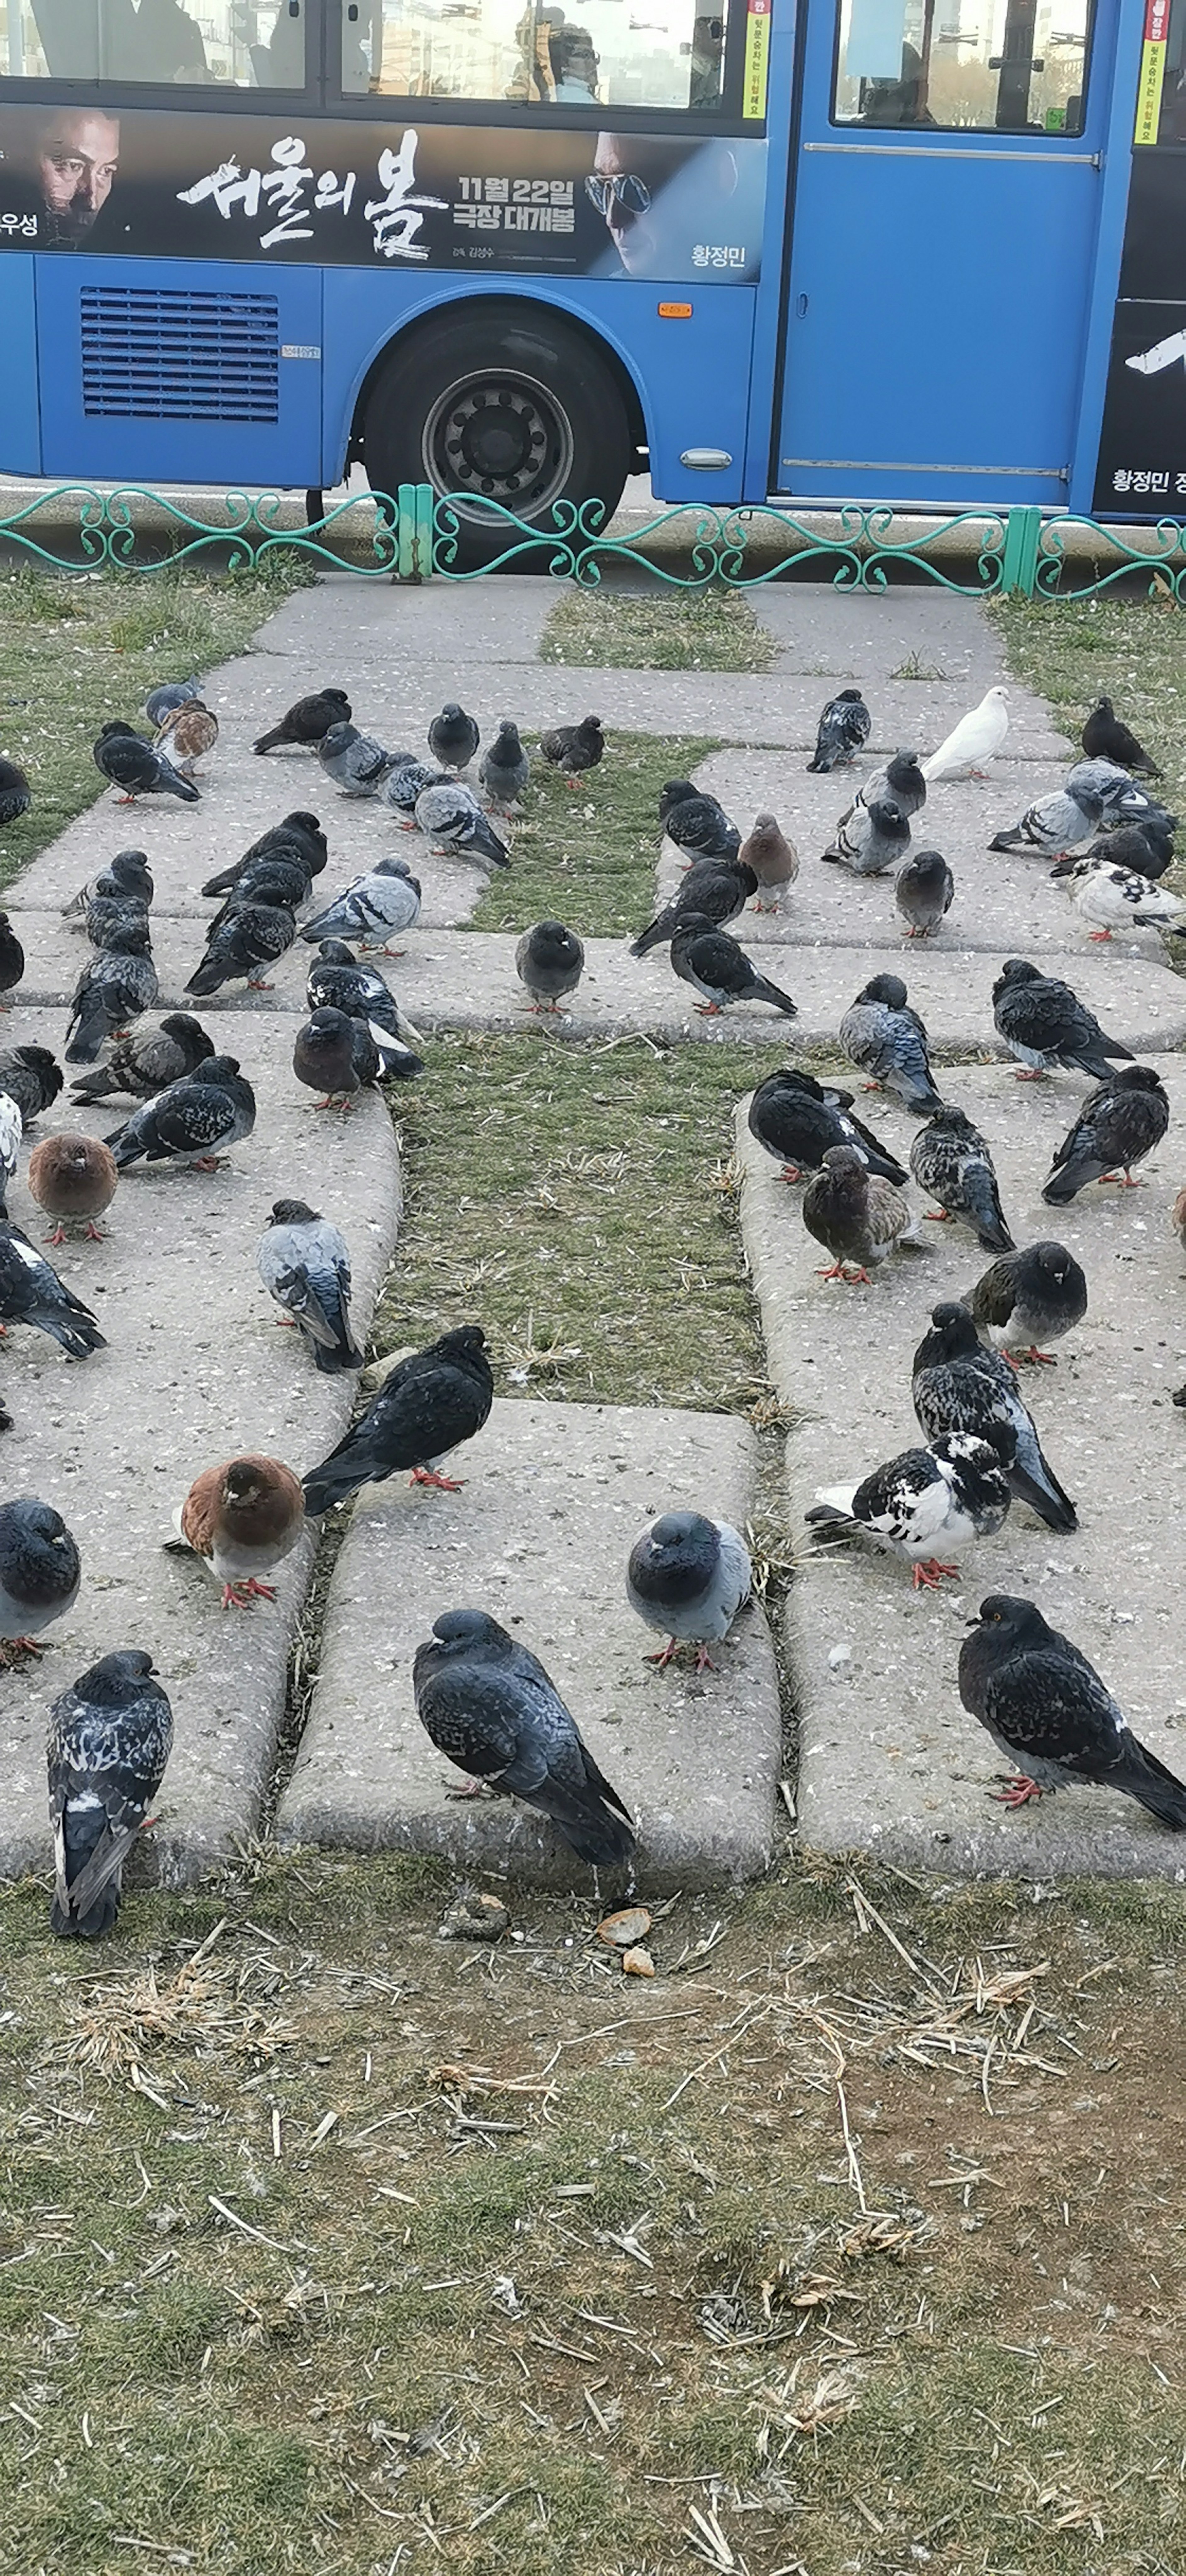
[[[8,263],[5,263],[8,273]],[[36,260],[41,474],[322,482],[322,270]]]

